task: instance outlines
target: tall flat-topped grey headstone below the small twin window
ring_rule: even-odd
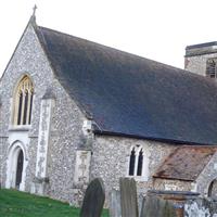
[[[120,178],[120,205],[123,217],[138,217],[137,186],[135,179]]]

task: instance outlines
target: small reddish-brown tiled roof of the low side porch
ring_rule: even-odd
[[[194,181],[215,154],[216,148],[176,149],[154,174],[154,178]]]

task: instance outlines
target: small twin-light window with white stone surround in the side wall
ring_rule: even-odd
[[[142,176],[143,169],[143,150],[140,148],[132,148],[129,157],[129,176]]]

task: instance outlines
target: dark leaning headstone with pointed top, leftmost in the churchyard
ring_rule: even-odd
[[[93,179],[85,193],[80,217],[100,217],[105,201],[104,184],[101,178]]]

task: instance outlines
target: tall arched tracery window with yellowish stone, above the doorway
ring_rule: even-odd
[[[30,125],[34,86],[28,76],[20,81],[14,95],[14,125]]]

